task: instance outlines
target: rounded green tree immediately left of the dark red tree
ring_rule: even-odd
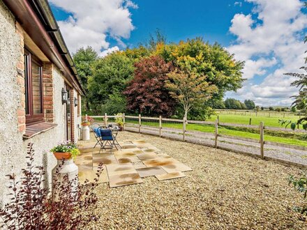
[[[88,89],[93,112],[95,114],[123,112],[118,109],[104,109],[111,108],[112,102],[117,103],[116,106],[114,105],[117,108],[126,106],[123,91],[133,78],[133,60],[122,52],[112,53],[98,59],[92,71],[93,75],[89,78]]]

